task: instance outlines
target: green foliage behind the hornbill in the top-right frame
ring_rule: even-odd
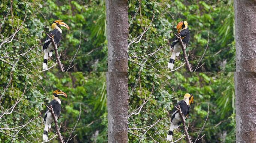
[[[140,9],[138,9],[139,6],[141,6]],[[152,19],[153,21],[150,23]],[[233,0],[150,0],[141,1],[141,3],[138,0],[130,0],[129,41],[142,34],[145,27],[149,27],[149,30],[143,35],[140,42],[129,47],[129,56],[150,54],[162,46],[164,48],[147,60],[143,70],[167,71],[166,67],[171,55],[168,39],[174,37],[170,31],[176,32],[176,25],[180,20],[188,21],[191,31],[191,41],[186,48],[186,53],[187,55],[189,53],[192,69],[195,69],[197,61],[204,53],[209,32],[209,46],[201,63],[205,64],[197,71],[235,71]],[[179,57],[183,59],[182,52]],[[144,62],[138,58],[130,60],[133,61],[129,62],[129,69],[132,71],[140,69],[140,66],[134,62],[138,64]],[[174,69],[182,64],[183,60],[178,59]],[[186,71],[185,66],[178,71]]]

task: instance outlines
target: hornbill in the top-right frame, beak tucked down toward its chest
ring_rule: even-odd
[[[184,47],[188,45],[190,41],[190,32],[188,28],[188,22],[186,21],[181,21],[177,25],[177,32],[180,34],[180,37],[182,38]],[[177,35],[177,34],[176,34]],[[180,55],[180,50],[182,50],[182,45],[179,42],[179,39],[177,36],[175,36],[172,40],[173,43],[171,44],[171,51],[173,52],[171,54],[170,61],[168,62],[168,68],[173,70],[174,62],[175,62],[175,57]]]

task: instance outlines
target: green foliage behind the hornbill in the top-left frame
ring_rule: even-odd
[[[67,56],[62,53],[60,58],[64,69],[67,69],[68,59],[71,61],[79,47],[81,32],[81,47],[73,61],[73,64],[77,63],[77,65],[69,71],[107,71],[105,11],[104,0],[14,0],[12,7],[10,0],[2,0],[0,1],[0,24],[2,25],[0,43],[15,32],[18,23],[21,25],[26,14],[27,17],[13,41],[2,45],[0,56],[22,54],[32,46],[41,44],[16,63],[16,65],[25,64],[27,68],[22,66],[14,68],[28,71],[42,70],[43,44],[41,42],[44,42],[46,38],[42,31],[49,33],[52,31],[52,21],[61,19],[70,27],[70,31],[62,28],[62,40],[58,48],[59,53],[62,50]],[[55,58],[55,55],[53,57]],[[10,58],[2,60],[8,63],[16,61]],[[54,63],[55,60],[49,58],[48,67]],[[0,64],[3,67],[3,62]],[[5,63],[4,67],[6,66],[9,65]]]

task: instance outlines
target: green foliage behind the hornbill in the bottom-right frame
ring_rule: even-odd
[[[137,86],[136,83],[138,82]],[[134,88],[135,86],[135,88]],[[154,88],[153,88],[154,86]],[[134,88],[134,89],[133,89]],[[152,96],[150,93],[152,91]],[[132,92],[133,89],[133,92]],[[235,96],[233,73],[187,73],[175,72],[154,73],[141,72],[129,73],[129,112],[140,107],[146,97],[149,101],[143,106],[138,115],[132,115],[129,121],[129,128],[142,128],[159,123],[150,128],[143,136],[144,131],[130,130],[131,133],[143,137],[150,137],[161,143],[166,142],[166,136],[170,127],[169,112],[171,113],[174,105],[183,99],[185,93],[194,96],[194,103],[187,124],[191,122],[197,132],[204,124],[207,117],[209,104],[209,118],[201,135],[205,137],[201,142],[235,142]],[[138,110],[136,111],[138,112]],[[168,117],[168,118],[166,118]],[[182,127],[180,127],[181,130]],[[195,140],[197,134],[189,125],[189,134]],[[174,141],[183,135],[179,130],[174,130]],[[182,139],[182,143],[186,141]],[[134,142],[153,142],[152,139],[140,139],[129,134],[129,140]]]

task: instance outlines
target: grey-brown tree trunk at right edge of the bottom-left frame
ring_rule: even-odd
[[[109,143],[128,142],[128,73],[107,72]]]

